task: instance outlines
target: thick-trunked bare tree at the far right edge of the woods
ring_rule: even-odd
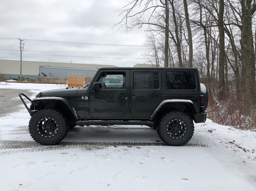
[[[241,80],[243,92],[245,93],[245,109],[244,114],[250,115],[251,101],[255,99],[255,59],[253,46],[252,18],[256,11],[256,1],[239,0],[237,2],[229,2],[240,31],[241,46]]]

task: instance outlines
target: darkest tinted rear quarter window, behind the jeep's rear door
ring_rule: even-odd
[[[196,89],[194,72],[166,72],[167,89]]]

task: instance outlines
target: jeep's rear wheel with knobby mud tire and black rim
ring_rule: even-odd
[[[194,134],[194,123],[187,114],[171,111],[160,118],[157,134],[167,145],[185,145]]]

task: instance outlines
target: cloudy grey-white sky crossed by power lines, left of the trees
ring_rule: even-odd
[[[0,59],[20,60],[18,38],[22,38],[27,39],[22,60],[72,60],[118,67],[143,64],[139,59],[144,52],[143,29],[128,34],[125,28],[113,32],[113,25],[122,19],[116,10],[126,4],[126,0],[1,0]]]

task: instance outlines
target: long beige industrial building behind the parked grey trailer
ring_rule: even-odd
[[[0,60],[0,76],[7,79],[20,77],[19,60]],[[96,65],[96,64],[75,64],[75,63],[60,63],[60,62],[35,62],[22,61],[22,76],[24,78],[37,79],[39,76],[40,66],[54,66],[54,67],[69,67],[69,68],[86,68],[98,69],[102,67],[115,67],[114,65]]]

